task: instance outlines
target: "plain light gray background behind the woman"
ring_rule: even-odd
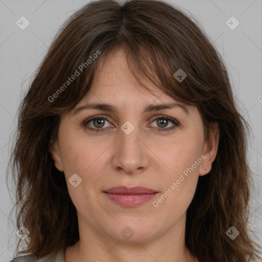
[[[203,26],[228,68],[232,88],[241,112],[253,134],[248,156],[254,172],[250,227],[262,245],[262,1],[169,1],[186,9]],[[0,260],[13,257],[18,238],[15,217],[9,216],[14,201],[6,185],[6,167],[10,156],[10,138],[17,123],[17,108],[28,87],[30,77],[50,46],[57,29],[88,1],[0,0]],[[30,25],[21,30],[16,21],[25,16]],[[235,16],[240,25],[231,30],[226,21]],[[10,179],[9,179],[10,181]],[[11,186],[11,184],[10,184]],[[12,190],[11,190],[12,191]],[[225,229],[226,231],[227,229]]]

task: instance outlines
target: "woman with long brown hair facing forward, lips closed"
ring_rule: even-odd
[[[162,1],[85,5],[19,108],[10,164],[29,254],[13,261],[259,258],[247,129],[196,21]]]

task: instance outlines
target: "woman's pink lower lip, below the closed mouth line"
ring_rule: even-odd
[[[108,198],[123,207],[136,207],[155,197],[156,193],[151,194],[111,194],[104,192]]]

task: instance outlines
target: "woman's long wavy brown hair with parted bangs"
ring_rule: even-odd
[[[147,79],[173,99],[198,107],[205,139],[211,124],[219,125],[216,158],[210,172],[199,177],[187,209],[190,253],[205,262],[258,258],[260,247],[248,227],[249,124],[237,109],[225,63],[201,25],[179,7],[157,0],[90,2],[55,35],[18,108],[8,167],[16,188],[16,225],[30,235],[27,248],[18,252],[19,239],[16,252],[41,258],[79,240],[76,208],[50,146],[61,115],[89,94],[102,59],[117,49],[124,50],[143,88],[148,90],[142,81]],[[179,69],[187,75],[181,82],[173,76]],[[231,226],[240,232],[234,240],[226,234]]]

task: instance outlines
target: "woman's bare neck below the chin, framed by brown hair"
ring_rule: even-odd
[[[181,218],[168,232],[148,241],[123,242],[83,228],[79,219],[80,240],[65,251],[65,262],[199,262],[185,246],[185,220]]]

